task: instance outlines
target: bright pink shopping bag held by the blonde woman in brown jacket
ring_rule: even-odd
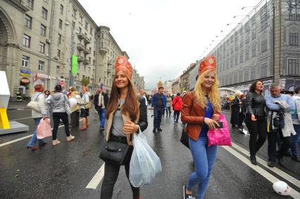
[[[232,146],[230,139],[230,132],[225,115],[219,116],[220,122],[223,122],[222,129],[209,129],[208,136],[208,146],[219,145],[219,146]]]

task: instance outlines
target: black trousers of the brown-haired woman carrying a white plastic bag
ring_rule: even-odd
[[[132,147],[133,150],[133,147]],[[132,150],[130,150],[130,157],[132,155]],[[125,173],[127,176],[127,179],[129,181],[129,169],[130,169],[130,158],[125,162]],[[105,162],[105,167],[104,167],[104,179],[103,183],[101,186],[101,195],[100,198],[103,199],[111,199],[113,197],[113,186],[115,186],[115,182],[118,179],[120,171],[120,166],[116,166],[113,164],[110,164],[109,162]],[[132,194],[133,194],[133,199],[139,199],[139,187],[134,187],[130,184]]]

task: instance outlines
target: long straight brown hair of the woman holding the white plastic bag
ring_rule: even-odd
[[[126,74],[125,74],[126,75]],[[127,77],[127,75],[126,75]],[[125,98],[125,102],[122,105],[121,113],[127,113],[132,121],[137,120],[137,113],[139,112],[139,106],[137,104],[137,94],[135,93],[135,86],[133,86],[131,80],[128,79],[128,91]],[[120,98],[120,89],[118,89],[115,83],[115,76],[113,77],[113,86],[111,86],[111,97],[108,101],[108,107],[105,113],[106,119],[108,119],[109,114],[118,108],[118,99]]]

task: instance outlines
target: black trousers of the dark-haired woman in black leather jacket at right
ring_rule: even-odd
[[[245,122],[250,133],[250,155],[255,156],[256,152],[263,146],[263,143],[265,143],[265,139],[267,138],[267,122],[265,121],[265,117],[259,116],[256,116],[256,121],[252,121],[250,114],[246,114]]]

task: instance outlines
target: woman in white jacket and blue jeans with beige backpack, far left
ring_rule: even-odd
[[[40,111],[31,110],[31,115],[33,120],[35,120],[35,132],[33,133],[29,143],[27,144],[27,148],[30,148],[32,151],[37,150],[37,147],[35,146],[35,143],[37,143],[37,140],[39,141],[39,146],[45,146],[46,142],[44,139],[37,139],[37,126],[39,125],[39,122],[41,120],[45,120],[46,116],[48,115],[46,111],[46,101],[44,96],[44,84],[42,83],[41,79],[37,79],[37,81],[34,82],[35,86],[35,93],[31,96],[31,101],[36,101],[37,105],[39,107]]]

